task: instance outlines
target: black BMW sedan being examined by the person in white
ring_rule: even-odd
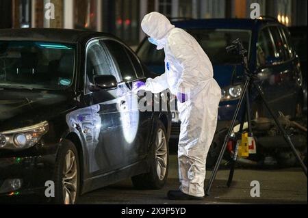
[[[130,177],[137,188],[162,188],[171,115],[132,106],[141,98],[133,82],[146,77],[106,33],[1,29],[0,196],[74,204]]]

